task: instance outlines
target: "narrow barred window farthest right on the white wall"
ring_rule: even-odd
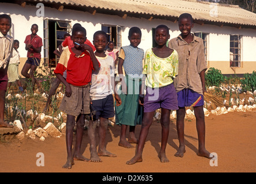
[[[230,35],[230,67],[240,67],[241,61],[241,36]]]

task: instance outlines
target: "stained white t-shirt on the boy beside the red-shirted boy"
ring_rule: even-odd
[[[92,100],[103,99],[107,95],[113,94],[111,77],[114,80],[114,59],[111,56],[96,56],[101,68],[93,70],[91,76],[90,97]]]

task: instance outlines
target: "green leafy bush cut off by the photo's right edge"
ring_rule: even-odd
[[[244,74],[244,78],[241,79],[242,89],[245,91],[253,92],[256,90],[256,71],[253,71],[252,74]]]

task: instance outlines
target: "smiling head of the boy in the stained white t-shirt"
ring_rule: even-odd
[[[107,34],[103,30],[98,30],[94,33],[94,40],[92,41],[97,51],[104,51],[107,45]]]

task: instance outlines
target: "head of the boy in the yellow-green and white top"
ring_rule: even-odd
[[[166,45],[170,39],[169,28],[166,25],[158,25],[155,28],[155,42],[160,45]]]

